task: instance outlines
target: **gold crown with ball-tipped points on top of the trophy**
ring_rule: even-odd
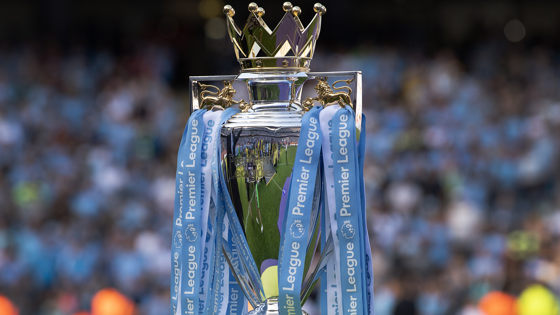
[[[223,7],[227,15],[227,30],[242,70],[262,71],[272,68],[309,71],[315,41],[321,29],[321,16],[326,8],[321,3],[315,3],[313,10],[316,14],[307,27],[301,24],[298,17],[301,14],[300,7],[292,7],[290,2],[284,2],[283,9],[286,15],[272,31],[263,21],[264,9],[251,2],[251,13],[245,27],[240,30],[232,19],[235,10],[229,5]]]

